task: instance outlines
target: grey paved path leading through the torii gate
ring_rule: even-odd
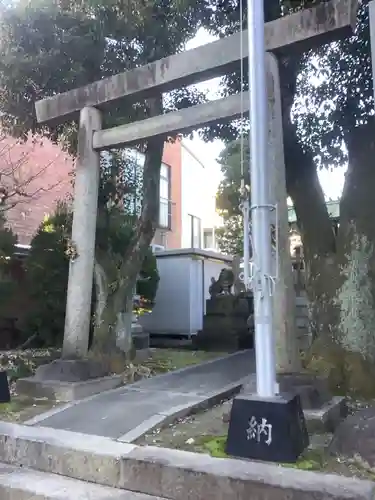
[[[132,442],[192,407],[230,395],[254,371],[253,351],[241,351],[69,403],[26,424]]]

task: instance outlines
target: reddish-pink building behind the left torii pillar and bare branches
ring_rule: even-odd
[[[181,247],[181,151],[180,141],[166,143],[161,168],[160,224],[154,243],[168,248]],[[6,214],[19,244],[29,245],[56,203],[71,199],[73,169],[72,158],[46,139],[26,143],[0,139],[1,183],[8,179],[9,186],[17,185],[27,195],[13,197],[15,206]]]

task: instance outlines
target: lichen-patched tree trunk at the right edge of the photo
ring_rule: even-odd
[[[374,120],[346,137],[349,168],[340,206],[337,341],[375,362]]]

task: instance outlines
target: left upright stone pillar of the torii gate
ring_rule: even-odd
[[[81,110],[74,183],[73,256],[69,266],[62,352],[62,357],[68,359],[84,358],[89,345],[100,175],[100,153],[93,149],[92,143],[94,132],[100,130],[101,125],[99,110],[93,107]]]

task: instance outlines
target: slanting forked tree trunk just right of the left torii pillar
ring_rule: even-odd
[[[158,115],[161,111],[161,98],[152,99],[150,115]],[[97,262],[96,266],[97,321],[91,354],[100,357],[103,362],[111,360],[111,365],[113,360],[115,364],[121,365],[121,358],[126,360],[133,354],[131,340],[133,291],[159,220],[160,166],[163,148],[164,139],[161,137],[151,138],[147,143],[143,168],[142,212],[124,255],[123,264],[117,270],[115,282],[109,283],[104,263]],[[121,342],[118,342],[119,339]]]

